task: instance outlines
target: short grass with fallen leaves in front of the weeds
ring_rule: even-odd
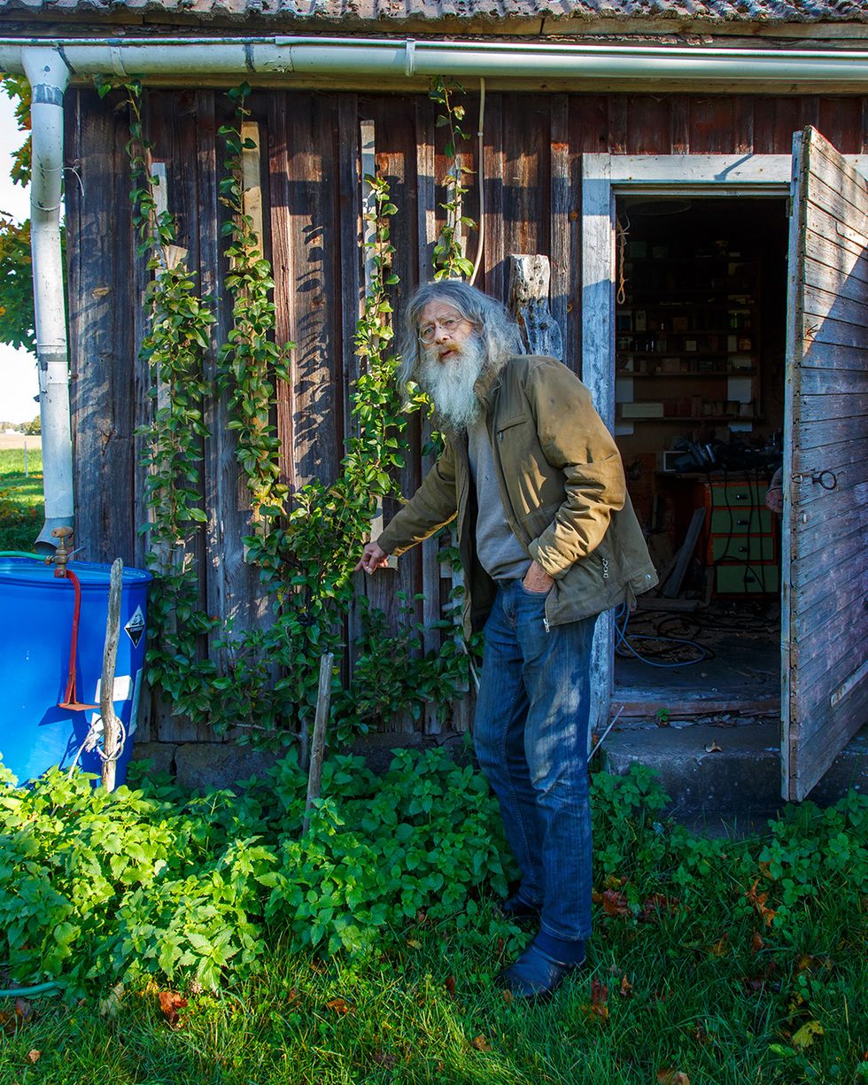
[[[406,932],[367,967],[269,950],[260,978],[187,993],[170,1025],[157,988],[63,1007],[5,1042],[0,1081],[117,1085],[480,1083],[744,1085],[865,1081],[866,969],[841,933],[804,957],[750,922],[600,923],[592,963],[544,1006],[492,983],[519,940],[490,907],[468,945]],[[817,935],[822,937],[821,931]],[[725,937],[726,945],[718,947]],[[831,935],[831,932],[829,932]],[[717,941],[714,941],[714,940]],[[108,1014],[114,1013],[114,1017]],[[103,1016],[105,1014],[105,1016]],[[37,1062],[30,1052],[39,1051]],[[863,1074],[868,1064],[863,1063]],[[679,1076],[680,1075],[680,1076]]]

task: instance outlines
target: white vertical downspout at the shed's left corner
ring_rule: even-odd
[[[22,50],[33,101],[30,251],[34,264],[36,357],[42,429],[46,520],[36,540],[55,547],[54,527],[73,526],[73,443],[69,433],[69,368],[61,255],[63,188],[63,93],[69,69],[54,49]]]

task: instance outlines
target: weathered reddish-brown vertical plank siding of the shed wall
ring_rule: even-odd
[[[69,326],[77,525],[84,557],[120,556],[142,564],[143,469],[136,426],[149,418],[149,378],[137,359],[143,333],[143,260],[131,239],[126,126],[113,97],[68,93],[67,158],[82,184],[67,189]],[[476,129],[468,95],[468,131]],[[281,467],[291,486],[337,470],[347,427],[349,384],[357,373],[353,330],[363,283],[360,229],[360,122],[373,123],[375,161],[400,213],[393,220],[400,301],[429,276],[443,212],[447,161],[437,106],[423,95],[257,91],[250,102],[263,148],[265,247],[278,290],[277,330],[295,343],[293,381],[277,425]],[[214,348],[227,331],[217,183],[224,156],[219,125],[229,115],[219,91],[149,91],[144,124],[155,161],[164,162],[168,206],[215,306]],[[483,162],[475,141],[464,164],[482,167],[485,254],[477,285],[506,301],[511,253],[551,259],[551,309],[564,333],[564,359],[580,370],[580,156],[625,154],[789,153],[794,130],[815,123],[843,152],[861,153],[868,100],[669,94],[489,94]],[[470,175],[474,179],[476,174]],[[478,215],[475,191],[465,213]],[[471,234],[469,255],[475,256]],[[242,560],[247,512],[233,459],[225,404],[210,407],[202,493],[209,514],[199,560],[203,604],[243,629],[267,621],[254,571]],[[421,445],[422,421],[410,437]],[[414,454],[403,472],[411,492],[425,464]],[[392,509],[386,508],[388,518]],[[424,592],[420,617],[437,612],[442,586],[431,545],[362,585],[394,616],[396,589]],[[352,623],[350,623],[352,625]],[[151,737],[206,738],[159,719]],[[143,736],[149,737],[144,722]]]

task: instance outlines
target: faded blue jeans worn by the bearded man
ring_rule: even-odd
[[[591,838],[587,741],[596,617],[552,626],[546,596],[521,580],[498,586],[485,625],[473,744],[500,803],[521,868],[521,897],[541,905],[540,928],[590,935]]]

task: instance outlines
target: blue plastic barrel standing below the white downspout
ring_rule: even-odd
[[[99,705],[112,566],[71,561],[68,567],[81,583],[76,697]],[[114,705],[127,739],[117,783],[126,776],[136,731],[152,579],[143,570],[124,570]],[[0,557],[0,755],[20,782],[52,765],[68,768],[76,758],[88,773],[101,769],[95,751],[79,756],[91,725],[100,722],[99,707],[59,706],[68,675],[74,601],[73,582],[55,577],[52,565]]]

